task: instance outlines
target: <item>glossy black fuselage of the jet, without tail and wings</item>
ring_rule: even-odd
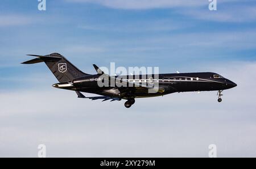
[[[151,78],[145,78],[143,75],[125,75],[125,76],[115,76],[115,78],[120,78],[123,81],[129,83],[158,83],[158,87],[162,88],[161,92],[148,93],[147,90],[141,87],[129,86],[133,90],[129,90],[129,93],[125,90],[127,87],[119,87],[119,90],[115,90],[117,85],[103,86],[99,87],[98,82],[102,81],[101,75],[88,75],[86,77],[74,79],[72,86],[68,86],[66,83],[58,83],[59,85],[53,84],[54,87],[64,88],[67,90],[75,90],[81,92],[89,92],[93,94],[100,94],[104,96],[118,97],[122,99],[133,98],[143,98],[148,96],[160,96],[171,94],[174,92],[189,92],[189,91],[219,91],[226,90],[237,86],[236,83],[221,77],[217,73],[174,73],[174,74],[159,74],[150,75]],[[157,77],[157,78],[156,78]],[[63,86],[61,86],[61,84]],[[120,91],[121,90],[121,91]]]

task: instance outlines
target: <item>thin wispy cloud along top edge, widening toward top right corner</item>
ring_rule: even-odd
[[[214,22],[251,22],[256,19],[256,9],[251,0],[217,1],[217,11],[209,11],[208,0],[66,0],[76,3],[97,3],[113,9],[145,10],[172,8],[178,14]]]

